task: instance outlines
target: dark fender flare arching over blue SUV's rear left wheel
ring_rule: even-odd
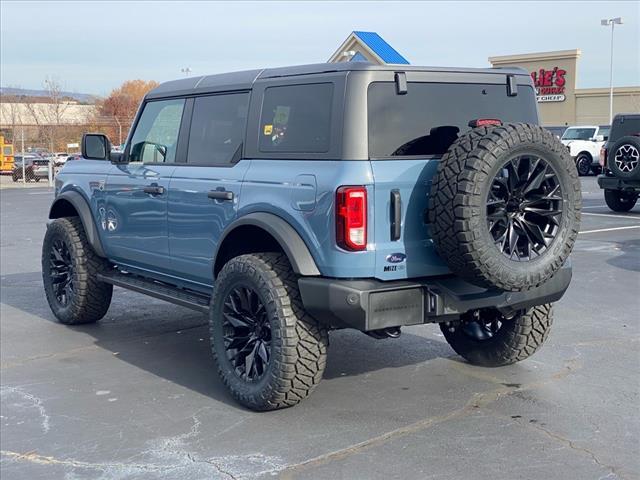
[[[267,212],[254,212],[244,215],[232,222],[220,236],[220,241],[213,257],[213,265],[215,268],[218,252],[224,244],[227,236],[236,228],[243,225],[252,225],[265,230],[271,235],[282,247],[285,255],[291,262],[291,268],[298,275],[303,276],[319,276],[320,270],[315,260],[311,256],[311,252],[307,248],[306,243],[298,234],[298,232],[285,220]]]

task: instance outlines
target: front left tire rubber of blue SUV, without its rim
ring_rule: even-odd
[[[50,252],[56,238],[66,244],[73,265],[74,292],[64,306],[56,298],[50,274]],[[58,218],[48,225],[42,245],[42,281],[49,307],[60,323],[94,323],[104,317],[111,304],[113,286],[98,281],[97,275],[109,268],[109,263],[93,251],[78,217]]]

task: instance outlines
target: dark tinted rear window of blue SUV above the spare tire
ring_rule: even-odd
[[[506,85],[410,82],[397,95],[395,83],[375,82],[368,107],[372,158],[442,155],[480,118],[538,123],[533,88],[522,85],[509,97]]]

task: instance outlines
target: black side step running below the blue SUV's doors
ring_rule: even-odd
[[[167,285],[121,272],[99,273],[98,280],[110,283],[116,287],[126,288],[134,292],[144,293],[150,297],[159,298],[176,305],[190,308],[202,313],[209,313],[210,297],[202,293]]]

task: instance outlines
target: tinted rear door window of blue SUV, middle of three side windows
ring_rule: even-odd
[[[240,158],[248,93],[197,97],[193,105],[187,163],[229,165]]]

